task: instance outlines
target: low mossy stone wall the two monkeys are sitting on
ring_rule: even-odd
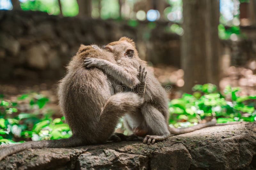
[[[154,145],[29,149],[3,159],[0,169],[256,169],[256,122],[208,127]]]

